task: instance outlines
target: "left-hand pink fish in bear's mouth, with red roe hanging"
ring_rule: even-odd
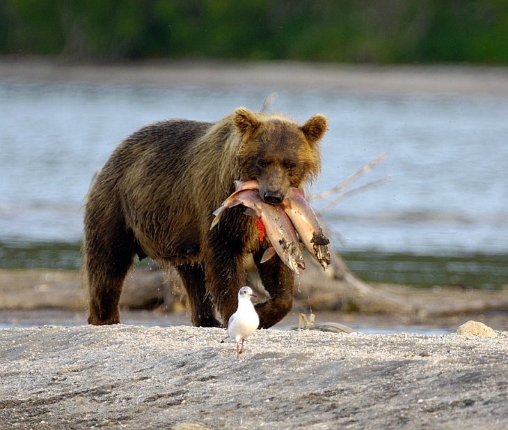
[[[299,274],[299,270],[304,270],[305,262],[303,261],[303,255],[299,247],[299,240],[289,217],[280,206],[264,203],[256,189],[241,189],[231,194],[220,208],[214,210],[214,215],[216,215],[216,217],[210,229],[219,222],[221,215],[226,209],[239,204],[248,208],[248,210],[246,210],[247,215],[261,217],[273,249],[275,249],[286,266],[297,275]],[[262,260],[267,261],[267,259],[263,256]]]

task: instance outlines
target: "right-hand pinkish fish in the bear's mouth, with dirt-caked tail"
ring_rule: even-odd
[[[305,249],[326,269],[330,264],[330,240],[324,236],[322,226],[319,225],[314,210],[305,200],[305,194],[300,188],[292,188],[287,199],[281,204],[298,233]]]

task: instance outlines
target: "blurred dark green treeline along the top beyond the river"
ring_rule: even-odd
[[[508,0],[0,0],[0,53],[508,64]]]

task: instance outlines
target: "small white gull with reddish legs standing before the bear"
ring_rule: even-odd
[[[257,297],[250,286],[242,286],[238,291],[238,308],[228,321],[228,338],[237,341],[237,357],[244,352],[244,341],[251,336],[260,325],[260,317],[254,309],[251,297]],[[223,339],[223,341],[225,341]],[[241,340],[241,344],[240,344]]]

